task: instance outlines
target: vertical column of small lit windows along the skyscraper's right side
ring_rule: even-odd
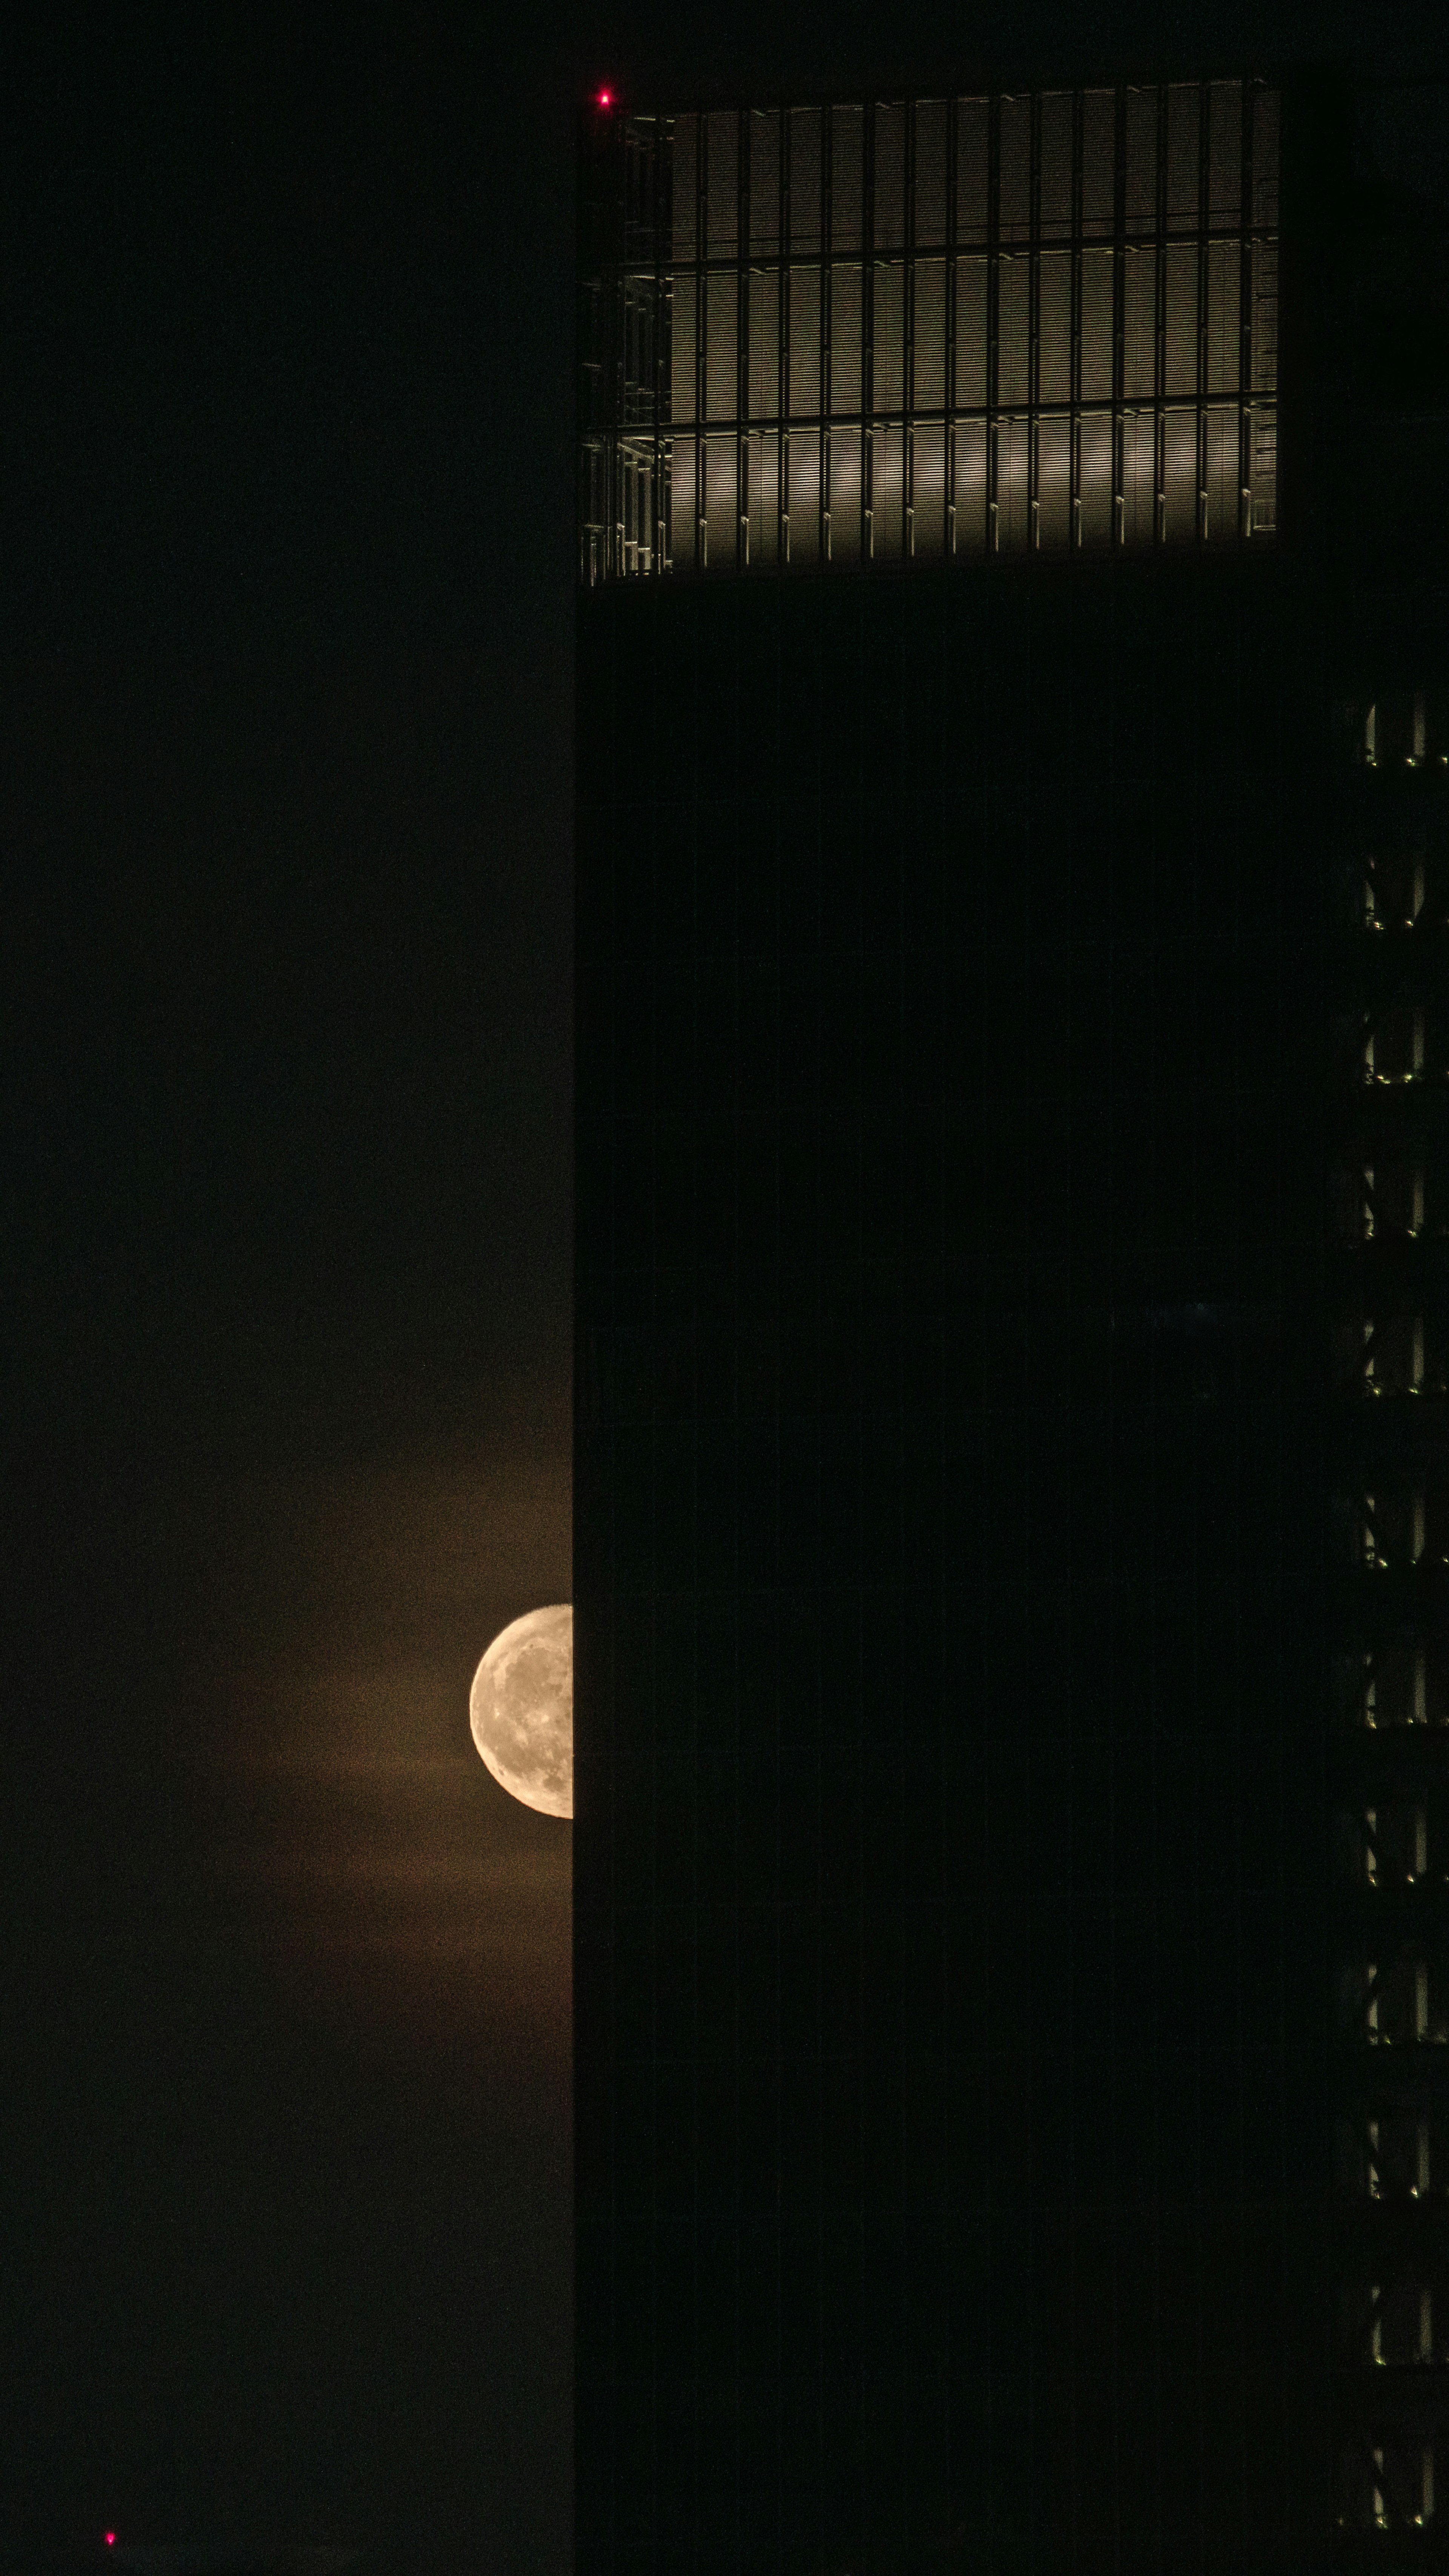
[[[1333,1234],[1349,1731],[1343,2535],[1426,2530],[1449,2458],[1449,690],[1354,719]],[[1367,1401],[1369,1399],[1369,1401]],[[1392,2550],[1392,2540],[1385,2537]],[[1356,2563],[1356,2561],[1354,2561]],[[1398,2561],[1395,2561],[1398,2563]]]

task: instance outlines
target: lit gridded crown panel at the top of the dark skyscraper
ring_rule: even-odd
[[[587,582],[1271,536],[1277,90],[633,116],[597,149]]]

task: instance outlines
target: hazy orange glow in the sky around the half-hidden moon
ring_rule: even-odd
[[[216,1705],[190,1788],[216,1899],[288,2009],[479,2115],[504,2081],[566,2123],[571,1834],[494,1793],[458,1710],[479,1646],[569,1589],[569,1409],[530,1386],[515,1427],[486,1401],[458,1453],[188,1492],[167,1564]]]

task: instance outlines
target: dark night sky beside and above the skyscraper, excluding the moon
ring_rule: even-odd
[[[558,2571],[571,113],[1351,8],[57,10],[0,41],[0,2558]],[[1439,8],[1377,28],[1439,64]]]

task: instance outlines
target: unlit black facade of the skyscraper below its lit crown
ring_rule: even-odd
[[[579,2576],[1315,2566],[1284,572],[582,603]]]

